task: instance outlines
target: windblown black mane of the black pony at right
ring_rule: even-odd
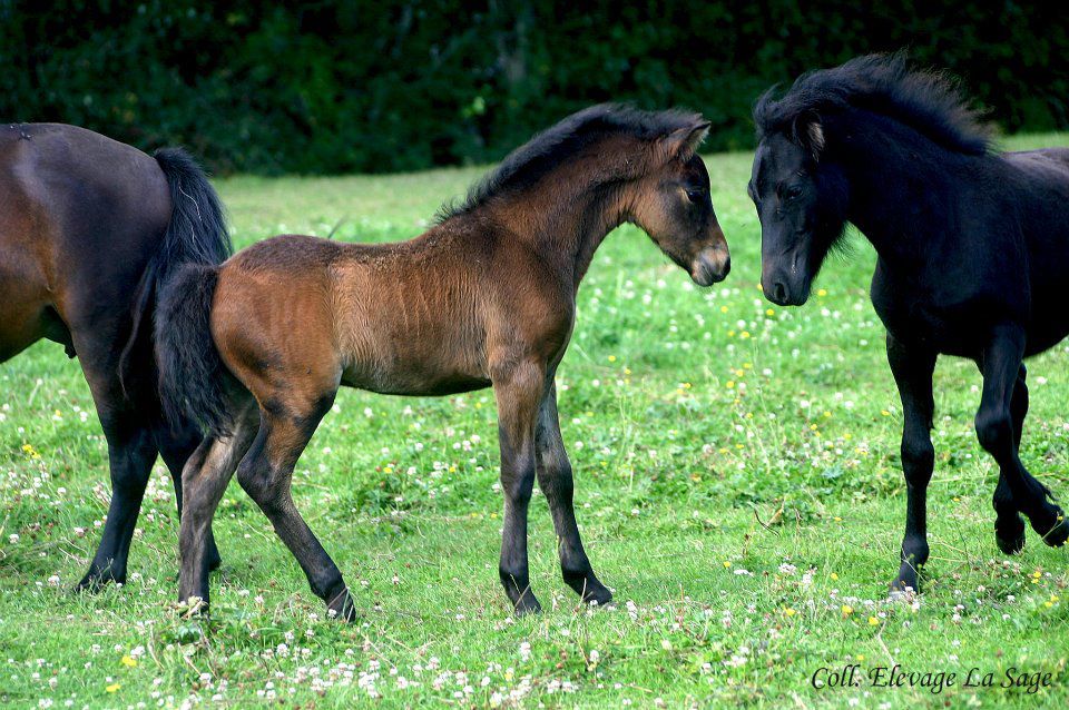
[[[766,91],[754,106],[758,138],[775,132],[795,137],[798,118],[807,114],[863,109],[909,126],[949,150],[983,155],[992,147],[990,126],[958,82],[945,73],[912,69],[902,52],[859,57],[802,75],[778,99],[775,91]]]

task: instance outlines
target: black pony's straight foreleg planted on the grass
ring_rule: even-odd
[[[887,362],[902,400],[902,471],[905,474],[905,535],[891,593],[919,591],[918,572],[928,562],[928,483],[935,467],[932,446],[932,372],[936,353],[906,346],[887,334]]]

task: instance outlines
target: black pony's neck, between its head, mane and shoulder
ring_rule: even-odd
[[[892,118],[853,110],[824,120],[825,160],[849,184],[846,220],[890,265],[914,268],[953,237],[955,176],[975,156],[949,150]]]

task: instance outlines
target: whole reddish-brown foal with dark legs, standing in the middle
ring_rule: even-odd
[[[727,275],[727,244],[695,155],[707,130],[694,114],[592,107],[510,155],[463,206],[410,241],[281,236],[222,267],[183,269],[157,319],[165,402],[209,436],[183,481],[180,600],[208,599],[206,542],[236,470],[315,594],[353,618],[342,574],[290,491],[297,457],[346,385],[403,395],[493,386],[509,600],[519,613],[539,609],[527,558],[537,476],[565,581],[583,601],[610,601],[576,526],[553,374],[579,282],[621,223],[639,225],[703,286]]]

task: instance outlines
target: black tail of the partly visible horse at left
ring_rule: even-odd
[[[165,148],[153,156],[170,187],[170,221],[138,285],[134,305],[134,327],[119,361],[119,379],[129,396],[129,359],[139,336],[150,329],[150,319],[163,290],[186,265],[214,266],[232,252],[223,204],[204,171],[180,148]],[[196,337],[183,333],[184,337]],[[164,394],[163,392],[160,394]],[[167,400],[164,400],[167,403]],[[168,420],[185,421],[180,407],[165,404]]]

